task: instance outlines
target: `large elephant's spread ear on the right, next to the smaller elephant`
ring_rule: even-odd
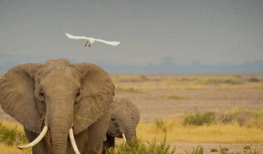
[[[109,112],[115,87],[109,74],[95,64],[71,67],[82,74],[82,99],[74,105],[74,134],[78,134]]]

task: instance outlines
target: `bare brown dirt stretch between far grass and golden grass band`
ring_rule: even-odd
[[[184,99],[163,98],[178,95]],[[263,89],[228,90],[151,90],[147,93],[117,93],[116,98],[126,97],[139,108],[141,120],[178,118],[185,112],[217,111],[234,109],[263,109]]]

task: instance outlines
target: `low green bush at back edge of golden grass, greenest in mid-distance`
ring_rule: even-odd
[[[210,111],[206,111],[203,113],[196,111],[194,114],[185,115],[183,118],[184,125],[201,126],[213,122],[215,122],[215,113]]]

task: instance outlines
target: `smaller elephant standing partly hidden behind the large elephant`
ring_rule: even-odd
[[[114,147],[115,137],[123,138],[125,134],[129,143],[136,137],[136,127],[139,123],[139,109],[128,99],[114,100],[110,105],[111,118],[107,131],[107,141],[104,148]]]

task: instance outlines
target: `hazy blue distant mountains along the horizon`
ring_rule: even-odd
[[[6,72],[18,63],[21,62],[0,62],[0,72]],[[104,62],[97,62],[97,64],[106,69],[109,73],[263,73],[263,61],[253,61],[242,64],[202,64],[199,61],[193,61],[189,65],[180,65],[176,63],[173,58],[165,57],[160,64],[149,63],[143,66]]]

